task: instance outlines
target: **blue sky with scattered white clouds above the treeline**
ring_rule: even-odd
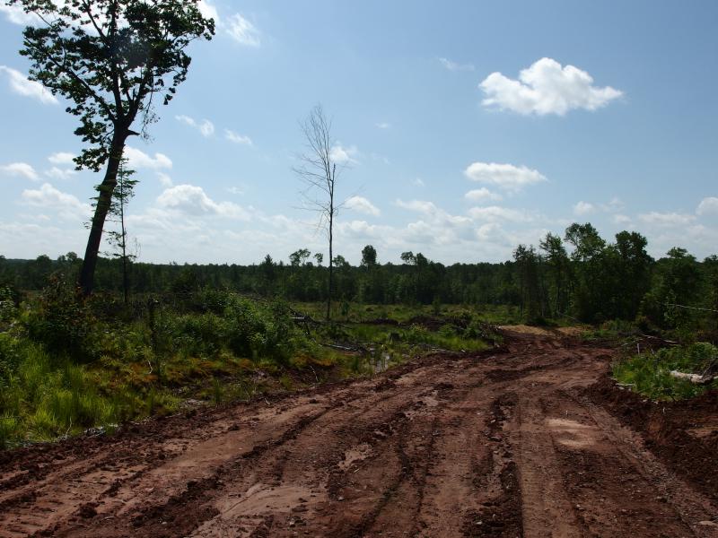
[[[215,39],[148,141],[127,227],[141,261],[327,256],[293,172],[321,104],[341,165],[334,252],[500,262],[572,222],[652,256],[718,253],[718,3],[204,0]],[[66,101],[26,78],[0,4],[0,254],[83,256],[92,187]]]

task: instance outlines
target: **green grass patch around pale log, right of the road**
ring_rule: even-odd
[[[672,377],[670,371],[703,374],[706,370],[716,369],[716,365],[718,348],[710,343],[693,343],[619,360],[613,366],[613,377],[652,400],[683,400],[718,389],[718,380],[696,385]]]

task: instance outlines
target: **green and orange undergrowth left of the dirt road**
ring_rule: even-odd
[[[476,312],[437,305],[430,316],[392,309],[383,325],[310,327],[295,323],[284,301],[228,291],[126,307],[112,295],[83,299],[57,277],[42,293],[17,297],[0,289],[0,449],[113,430],[197,400],[220,405],[371,375],[420,353],[478,351],[498,338]]]

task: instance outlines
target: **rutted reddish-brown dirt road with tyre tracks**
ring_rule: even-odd
[[[508,342],[4,456],[0,536],[718,536],[586,395],[611,351]]]

